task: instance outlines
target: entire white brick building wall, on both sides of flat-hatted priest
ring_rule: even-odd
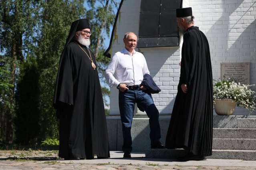
[[[208,38],[214,79],[220,78],[222,62],[250,62],[250,81],[256,84],[256,0],[183,0],[185,7],[192,7],[195,26]],[[139,10],[140,0],[124,0],[112,54],[124,47],[123,35],[126,32],[138,34]],[[179,81],[179,47],[137,50],[145,55],[151,76],[162,89],[159,94],[152,95],[157,109],[162,115],[170,114]],[[110,114],[119,115],[118,91],[115,88],[111,89]],[[248,112],[237,108],[234,115],[248,115]],[[256,115],[256,112],[251,115]]]

